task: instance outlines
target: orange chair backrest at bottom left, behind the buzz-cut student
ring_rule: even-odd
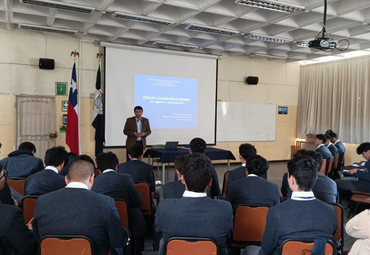
[[[44,236],[40,255],[93,255],[92,241],[86,236]]]

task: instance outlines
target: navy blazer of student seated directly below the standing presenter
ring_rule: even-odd
[[[118,165],[118,172],[131,175],[135,182],[147,182],[150,184],[151,191],[155,190],[152,175],[152,166],[141,160],[130,160]]]

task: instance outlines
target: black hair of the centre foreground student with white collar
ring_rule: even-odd
[[[204,154],[191,154],[185,161],[183,175],[189,191],[204,192],[212,179],[212,163]]]

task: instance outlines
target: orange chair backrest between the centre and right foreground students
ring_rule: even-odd
[[[233,244],[260,244],[268,211],[268,206],[237,206],[234,212]]]

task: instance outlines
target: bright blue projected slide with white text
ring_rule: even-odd
[[[196,129],[198,80],[135,74],[135,105],[152,129]]]

